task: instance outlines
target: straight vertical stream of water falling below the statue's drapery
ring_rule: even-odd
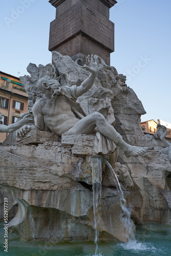
[[[100,222],[101,214],[101,158],[92,157],[92,179],[93,179],[93,212],[94,212],[94,228],[95,228],[95,240],[96,245],[95,256],[100,256],[100,251],[98,247],[99,242],[99,231],[97,226]]]

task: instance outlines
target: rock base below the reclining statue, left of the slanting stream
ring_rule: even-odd
[[[78,182],[92,184],[90,159],[75,157],[71,148],[71,145],[47,142],[37,146],[11,146],[8,151],[7,148],[0,151],[1,186],[18,202],[17,214],[9,228],[23,239],[94,239],[92,187]],[[108,237],[113,241],[127,240],[121,208],[117,206],[119,200],[116,189],[103,188],[102,219],[98,227],[103,232],[103,240]],[[109,212],[110,223],[105,218]],[[56,231],[56,222],[59,231]]]

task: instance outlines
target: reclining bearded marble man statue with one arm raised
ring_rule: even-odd
[[[45,125],[56,135],[62,134],[91,134],[97,127],[98,132],[112,140],[115,145],[122,148],[126,157],[139,156],[146,152],[147,147],[138,147],[127,144],[114,127],[109,124],[104,116],[94,112],[88,116],[76,103],[77,97],[86,93],[94,83],[98,72],[98,57],[88,55],[86,68],[90,75],[79,87],[61,87],[59,77],[52,79],[45,75],[38,81],[37,87],[45,96],[33,105],[35,124],[25,125],[17,131],[17,135],[24,136],[30,130],[44,131]]]

